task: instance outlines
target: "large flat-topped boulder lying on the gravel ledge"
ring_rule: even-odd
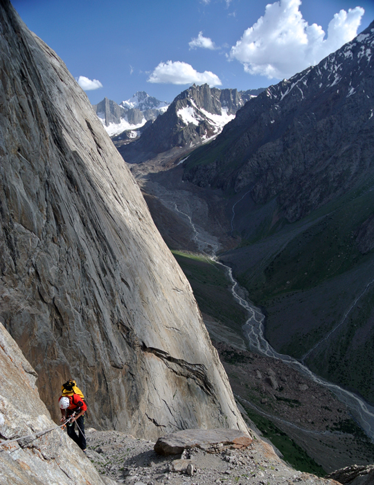
[[[239,430],[182,430],[161,436],[154,451],[159,455],[179,455],[188,448],[208,450],[219,445],[247,448],[251,442],[251,436]]]

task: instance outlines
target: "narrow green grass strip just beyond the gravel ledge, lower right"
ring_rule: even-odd
[[[255,423],[260,432],[262,432],[265,438],[269,439],[271,443],[278,448],[282,453],[285,461],[290,466],[300,470],[301,472],[313,473],[318,477],[326,475],[326,471],[314,461],[297,443],[294,442],[285,432],[280,430],[272,421],[260,416],[253,409],[246,407],[244,409],[247,412],[249,419]]]

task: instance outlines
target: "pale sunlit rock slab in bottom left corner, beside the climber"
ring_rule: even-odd
[[[53,423],[37,392],[37,373],[1,323],[0,372],[0,441],[10,441],[0,446],[1,484],[114,484]],[[23,436],[29,437],[13,441]]]

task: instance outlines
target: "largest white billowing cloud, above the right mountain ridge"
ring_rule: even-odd
[[[357,35],[364,9],[340,10],[328,24],[328,36],[317,24],[308,25],[299,10],[301,0],[269,3],[265,15],[247,28],[231,47],[229,59],[236,59],[251,74],[268,78],[290,78],[318,64]]]

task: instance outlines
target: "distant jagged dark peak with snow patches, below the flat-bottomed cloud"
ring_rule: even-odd
[[[257,94],[261,89],[254,90]],[[127,163],[139,163],[172,148],[192,148],[211,138],[219,131],[215,115],[235,114],[244,103],[253,97],[249,91],[210,88],[208,85],[193,85],[183,91],[159,116],[141,137],[130,145],[118,146]],[[188,121],[181,112],[185,110]],[[213,118],[209,115],[213,115]]]

